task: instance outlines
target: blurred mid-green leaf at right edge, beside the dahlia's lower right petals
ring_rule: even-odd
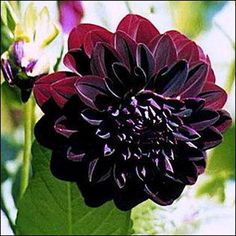
[[[226,131],[223,143],[212,151],[206,172],[213,176],[235,177],[235,126]]]

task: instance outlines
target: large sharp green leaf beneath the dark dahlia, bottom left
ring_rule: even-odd
[[[84,204],[74,183],[60,181],[49,170],[51,152],[32,146],[33,177],[19,203],[16,220],[19,235],[127,235],[130,212],[112,202],[99,208]]]

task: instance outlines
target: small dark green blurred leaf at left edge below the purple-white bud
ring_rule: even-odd
[[[3,99],[6,99],[9,109],[17,109],[22,105],[20,97],[20,89],[17,87],[10,87],[6,81],[1,84],[1,91]]]

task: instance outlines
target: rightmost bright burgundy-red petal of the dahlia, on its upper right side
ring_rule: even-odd
[[[205,99],[206,107],[217,110],[224,106],[227,93],[216,84],[207,82],[199,97]]]

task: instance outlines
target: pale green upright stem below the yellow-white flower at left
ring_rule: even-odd
[[[20,184],[20,198],[23,196],[29,181],[30,173],[30,158],[31,158],[31,145],[33,136],[33,122],[34,119],[34,100],[29,98],[28,102],[24,104],[24,153],[21,171],[21,184]]]

